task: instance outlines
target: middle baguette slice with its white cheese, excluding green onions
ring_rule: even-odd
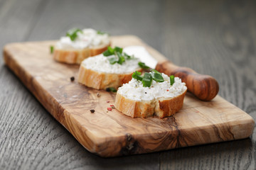
[[[97,55],[89,57],[80,64],[78,82],[93,89],[118,89],[132,79],[135,71],[141,72],[138,59],[127,60],[123,64],[110,64],[108,57]]]

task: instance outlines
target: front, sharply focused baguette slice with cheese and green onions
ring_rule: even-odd
[[[132,77],[117,91],[114,107],[118,111],[132,118],[165,118],[182,108],[187,87],[178,77],[168,77],[156,70],[144,76],[134,72]]]

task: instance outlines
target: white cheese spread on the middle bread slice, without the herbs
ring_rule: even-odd
[[[92,69],[96,72],[125,74],[131,73],[139,69],[139,59],[125,60],[122,64],[110,64],[108,58],[115,57],[114,55],[105,57],[104,55],[97,55],[95,57],[88,57],[82,61],[82,65],[87,69]]]

